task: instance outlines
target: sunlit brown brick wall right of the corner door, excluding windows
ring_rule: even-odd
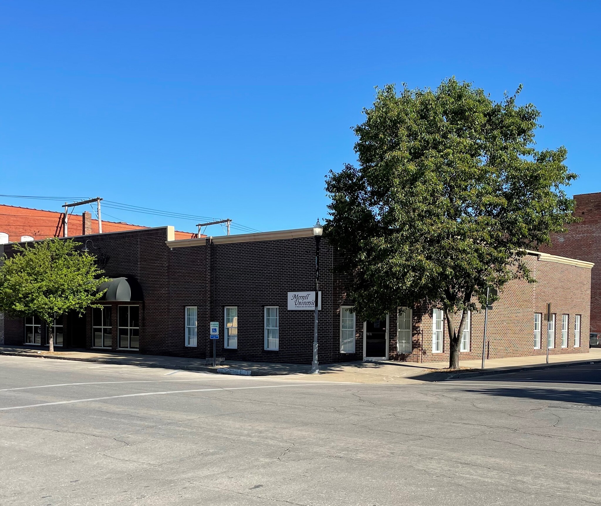
[[[591,269],[550,261],[538,261],[528,255],[526,261],[537,282],[511,281],[499,292],[499,300],[489,311],[487,323],[486,358],[545,355],[547,325],[542,322],[541,348],[534,349],[534,313],[542,313],[545,319],[547,303],[556,313],[555,349],[558,353],[588,353],[590,326],[590,279]],[[561,317],[569,314],[568,346],[561,348]],[[581,343],[574,347],[575,315],[581,315]],[[456,319],[459,325],[459,317]],[[448,361],[449,340],[447,322],[443,326],[443,353],[432,353],[432,308],[413,310],[413,353],[400,356],[396,341],[397,318],[390,316],[389,352],[392,360],[410,362]],[[472,312],[471,346],[462,352],[461,359],[480,359],[484,335],[484,311]]]

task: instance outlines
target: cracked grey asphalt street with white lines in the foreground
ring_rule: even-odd
[[[0,504],[601,504],[599,364],[379,385],[0,356]]]

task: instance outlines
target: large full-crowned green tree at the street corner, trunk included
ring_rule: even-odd
[[[442,309],[451,368],[466,311],[480,310],[486,287],[534,282],[525,249],[548,243],[573,212],[566,148],[535,149],[540,112],[516,105],[520,90],[494,102],[454,78],[435,91],[388,85],[355,127],[359,166],[326,178],[325,234],[353,276],[356,312]]]

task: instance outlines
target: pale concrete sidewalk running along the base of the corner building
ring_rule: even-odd
[[[206,371],[210,373],[248,374],[252,376],[272,376],[286,374],[290,379],[307,380],[311,365],[272,364],[268,362],[230,361],[218,367],[205,365],[205,359],[192,359],[140,353],[96,352],[91,350],[60,350],[50,354],[47,350],[25,346],[0,346],[1,355],[28,356],[35,358],[75,360],[99,364],[138,365],[139,367],[161,367],[173,370]],[[466,360],[460,363],[462,370],[448,371],[448,362],[342,362],[323,364],[321,374],[311,380],[352,382],[352,383],[412,383],[421,381],[441,381],[453,377],[491,374],[508,370],[528,368],[561,367],[562,365],[601,361],[601,348],[591,348],[589,353],[551,355],[549,364],[545,356],[501,358],[486,361],[484,371],[481,362]]]

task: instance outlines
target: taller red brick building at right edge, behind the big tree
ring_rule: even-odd
[[[574,216],[580,221],[566,225],[566,233],[553,234],[551,246],[540,249],[595,264],[591,272],[591,332],[601,334],[601,193],[574,195],[574,200]]]

